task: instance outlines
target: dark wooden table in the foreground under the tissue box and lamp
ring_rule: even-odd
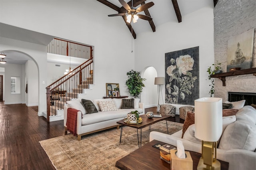
[[[124,158],[116,161],[116,167],[121,170],[170,170],[170,164],[160,159],[160,150],[152,147],[156,144],[164,145],[166,143],[152,140]],[[193,170],[196,170],[201,154],[192,151],[189,152],[193,160]],[[221,170],[228,170],[229,163],[222,160],[219,161]]]

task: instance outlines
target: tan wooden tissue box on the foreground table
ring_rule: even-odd
[[[192,170],[193,169],[193,160],[188,151],[185,151],[186,158],[178,158],[175,154],[177,150],[170,150],[171,152],[171,170]]]

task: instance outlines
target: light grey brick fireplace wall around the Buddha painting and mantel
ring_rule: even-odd
[[[214,8],[214,56],[227,69],[228,40],[254,29],[252,67],[256,67],[256,0],[219,0]],[[215,78],[214,97],[228,100],[228,91],[256,93],[256,76],[252,74],[226,77],[226,86]]]

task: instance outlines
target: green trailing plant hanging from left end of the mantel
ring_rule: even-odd
[[[212,78],[212,75],[214,74],[218,74],[218,73],[222,73],[221,67],[220,67],[221,63],[219,63],[217,61],[217,63],[212,64],[212,66],[208,67],[207,72],[208,74],[208,79],[211,80],[211,84],[209,85],[211,87],[209,94],[214,95],[214,79]]]

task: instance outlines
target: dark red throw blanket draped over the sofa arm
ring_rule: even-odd
[[[77,112],[78,110],[76,109],[68,108],[66,126],[68,131],[74,134],[74,136],[77,135],[76,133]]]

